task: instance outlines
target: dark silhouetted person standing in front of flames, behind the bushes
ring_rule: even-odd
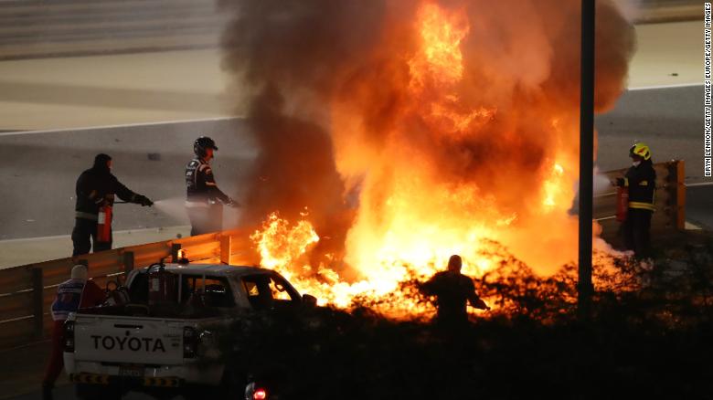
[[[490,310],[490,307],[475,293],[473,279],[461,273],[461,256],[452,255],[448,260],[448,269],[436,273],[421,285],[421,291],[436,297],[436,321],[444,325],[463,325],[468,321],[466,307]]]

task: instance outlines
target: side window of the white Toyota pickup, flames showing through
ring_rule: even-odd
[[[300,295],[278,276],[248,275],[242,277],[242,285],[248,295],[250,305],[256,310],[300,302]]]

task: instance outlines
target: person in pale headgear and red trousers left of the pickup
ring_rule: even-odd
[[[64,321],[69,312],[94,307],[101,304],[105,298],[103,290],[92,280],[87,279],[87,267],[77,265],[72,268],[71,279],[59,284],[57,297],[52,302],[52,350],[49,355],[45,379],[42,381],[42,398],[52,398],[52,388],[62,371],[64,346]]]

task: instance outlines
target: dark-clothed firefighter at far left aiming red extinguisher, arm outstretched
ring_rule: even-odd
[[[93,246],[94,252],[112,248],[112,235],[106,239],[98,237],[97,225],[101,207],[112,207],[114,197],[119,196],[125,202],[138,205],[154,205],[144,195],[137,195],[124,186],[112,174],[112,157],[97,154],[94,165],[80,174],[77,179],[77,205],[75,223],[72,230],[74,251],[72,257],[87,254]],[[111,224],[111,219],[106,221]],[[91,242],[90,242],[91,237]]]

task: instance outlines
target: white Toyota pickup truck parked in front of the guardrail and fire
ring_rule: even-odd
[[[173,303],[152,304],[153,276],[142,268],[126,279],[127,303],[69,315],[64,363],[78,397],[108,400],[133,390],[171,398],[172,388],[186,397],[186,388],[210,386],[217,397],[239,398],[245,377],[218,345],[221,332],[256,311],[316,302],[270,269],[166,264],[161,272],[175,275]]]

